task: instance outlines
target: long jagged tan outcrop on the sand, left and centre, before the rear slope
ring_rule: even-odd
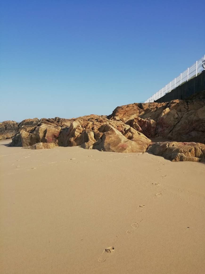
[[[151,143],[150,139],[130,125],[109,120],[106,116],[89,115],[65,120],[24,120],[21,131],[14,136],[10,146],[42,149],[45,144],[51,143],[101,151],[144,152]]]

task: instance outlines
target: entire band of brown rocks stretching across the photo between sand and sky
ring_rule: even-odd
[[[1,123],[0,138],[12,136],[10,146],[81,146],[112,152],[145,152],[151,144],[149,138],[163,138],[174,142],[154,144],[148,152],[171,161],[204,161],[205,100],[134,103],[117,107],[109,116]]]

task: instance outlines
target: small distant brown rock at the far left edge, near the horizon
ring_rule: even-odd
[[[16,121],[4,121],[0,123],[0,140],[12,138],[19,130]]]

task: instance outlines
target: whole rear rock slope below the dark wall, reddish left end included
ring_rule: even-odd
[[[124,105],[109,118],[121,119],[148,137],[205,143],[205,100]]]

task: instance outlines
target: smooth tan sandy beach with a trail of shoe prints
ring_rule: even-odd
[[[9,142],[2,274],[204,273],[204,163]]]

